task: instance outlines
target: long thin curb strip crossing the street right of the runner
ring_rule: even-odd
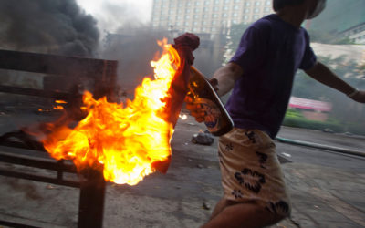
[[[345,148],[322,145],[322,144],[308,142],[308,141],[289,140],[289,139],[281,138],[281,137],[276,137],[275,140],[277,140],[279,142],[283,142],[283,143],[292,144],[292,145],[305,146],[305,147],[316,148],[316,149],[321,149],[321,150],[330,150],[330,151],[365,157],[365,151],[349,150],[349,149],[345,149]]]

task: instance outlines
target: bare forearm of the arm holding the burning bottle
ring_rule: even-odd
[[[224,67],[217,69],[213,78],[217,79],[218,82],[218,96],[222,97],[234,88],[235,81],[242,76],[243,72],[242,67],[235,63],[228,63]]]

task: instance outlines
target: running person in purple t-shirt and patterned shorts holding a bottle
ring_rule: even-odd
[[[235,56],[214,73],[219,96],[233,88],[226,108],[235,123],[219,139],[224,197],[203,227],[263,227],[290,214],[290,200],[273,139],[284,119],[297,69],[365,103],[352,88],[317,61],[300,25],[323,10],[326,0],[273,0],[276,14],[247,28]],[[199,105],[187,109],[204,120]]]

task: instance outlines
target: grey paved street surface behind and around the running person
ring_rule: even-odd
[[[20,120],[26,123],[21,117],[16,121]],[[17,126],[4,117],[0,124],[3,131]],[[212,146],[193,144],[190,139],[199,130],[205,130],[204,126],[192,118],[179,121],[167,174],[154,173],[137,186],[108,184],[104,227],[190,228],[199,227],[209,218],[222,189],[216,140]],[[362,137],[290,128],[283,128],[279,136],[365,149]],[[291,218],[274,227],[365,226],[364,158],[279,142],[276,145],[293,212]],[[38,227],[77,226],[78,189],[8,177],[0,177],[0,182],[0,221]]]

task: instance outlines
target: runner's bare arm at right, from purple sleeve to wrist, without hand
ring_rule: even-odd
[[[318,80],[318,82],[330,88],[337,89],[346,95],[349,95],[355,90],[355,88],[351,87],[347,82],[339,78],[328,67],[320,62],[318,62],[315,67],[307,70],[306,73],[311,78]]]

